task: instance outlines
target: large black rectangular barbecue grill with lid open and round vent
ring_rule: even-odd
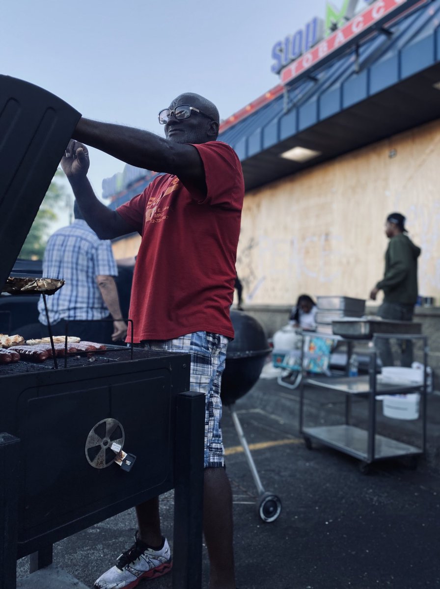
[[[0,284],[79,117],[0,75]],[[204,395],[188,392],[190,356],[108,346],[56,364],[0,365],[0,589],[15,589],[16,557],[45,567],[54,542],[172,488],[173,587],[200,588]],[[111,459],[112,438],[102,461],[87,446],[113,427],[136,456],[130,472]]]

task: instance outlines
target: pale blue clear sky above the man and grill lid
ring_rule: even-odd
[[[333,2],[342,5],[342,0]],[[197,92],[224,119],[277,85],[276,41],[325,16],[326,0],[6,0],[1,74],[56,94],[84,117],[163,135],[157,114]],[[90,150],[89,178],[124,163]]]

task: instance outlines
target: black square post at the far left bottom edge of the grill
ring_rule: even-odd
[[[16,588],[19,444],[0,434],[0,589]]]

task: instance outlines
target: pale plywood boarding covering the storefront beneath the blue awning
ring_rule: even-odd
[[[419,292],[440,302],[439,167],[435,121],[249,191],[237,256],[245,302],[293,305],[303,292],[368,299],[392,211],[422,248]]]

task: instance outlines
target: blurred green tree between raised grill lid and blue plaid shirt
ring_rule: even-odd
[[[41,260],[48,237],[52,233],[51,229],[59,220],[59,212],[70,209],[70,194],[58,181],[62,175],[62,171],[58,168],[18,257]]]

